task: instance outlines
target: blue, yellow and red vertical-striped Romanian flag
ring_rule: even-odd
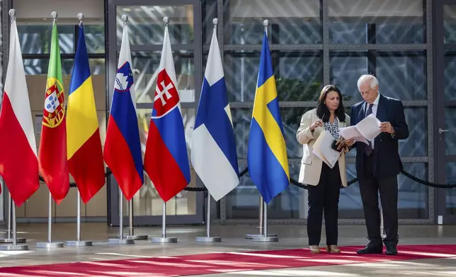
[[[105,170],[82,23],[69,86],[67,157],[69,172],[86,204],[105,184]]]

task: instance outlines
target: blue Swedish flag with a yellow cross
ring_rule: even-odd
[[[287,148],[266,32],[253,102],[247,164],[253,184],[266,203],[290,184]]]

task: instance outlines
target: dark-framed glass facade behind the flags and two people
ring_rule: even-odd
[[[456,126],[453,123],[456,119],[456,0],[446,0],[445,4],[431,0],[169,0],[166,5],[154,0],[103,2],[106,11],[101,13],[101,20],[106,20],[107,24],[92,22],[85,25],[91,71],[93,76],[98,76],[98,85],[94,83],[94,86],[98,86],[96,101],[100,107],[98,119],[103,126],[103,140],[109,111],[106,102],[109,103],[112,96],[122,37],[121,16],[129,17],[143,151],[161,58],[164,16],[171,18],[169,32],[187,141],[191,138],[198,107],[213,30],[212,19],[218,18],[217,35],[232,107],[239,170],[244,170],[263,20],[268,19],[290,177],[297,180],[300,172],[302,146],[295,138],[300,117],[315,107],[321,88],[329,83],[341,88],[349,112],[350,106],[361,100],[356,84],[358,77],[372,73],[380,82],[380,92],[402,100],[405,107],[410,136],[399,143],[404,170],[430,182],[456,182]],[[5,2],[1,7],[11,8]],[[1,20],[1,23],[6,24],[7,20]],[[67,81],[78,37],[76,26],[62,23],[58,28],[62,68]],[[39,78],[45,78],[47,73],[50,24],[38,24],[36,20],[22,22],[18,30],[28,82],[40,82]],[[0,40],[3,42],[0,61],[8,47],[5,41]],[[0,71],[2,77],[3,71]],[[68,85],[69,82],[65,84]],[[30,96],[32,107],[36,107],[33,108],[34,117],[42,110],[42,90],[38,90],[38,97]],[[189,154],[190,151],[188,147]],[[347,163],[350,180],[356,175],[355,151],[348,154]],[[111,184],[115,182],[111,180]],[[202,185],[192,170],[190,186]],[[399,175],[401,223],[433,223],[440,215],[453,216],[453,221],[448,222],[456,223],[455,191],[433,189]],[[117,215],[117,193],[115,184],[100,196],[108,201],[108,217]],[[44,195],[33,197],[44,197],[43,201],[46,201]],[[34,199],[30,203],[38,201]],[[212,217],[219,218],[222,223],[253,223],[258,219],[258,201],[258,190],[246,175],[241,178],[239,187],[212,206],[215,209]],[[134,203],[135,216],[144,217],[137,223],[148,224],[149,219],[155,217],[156,222],[160,221],[161,199],[149,179],[146,178]],[[204,206],[202,193],[183,191],[166,206],[167,214],[174,216],[169,222],[200,223],[204,218]],[[339,206],[342,222],[360,223],[364,216],[358,183],[341,190]],[[29,217],[34,212],[36,210],[31,208],[18,210],[18,216]],[[278,223],[304,222],[307,191],[290,184],[271,201],[268,217]]]

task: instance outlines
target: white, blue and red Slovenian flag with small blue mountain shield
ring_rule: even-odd
[[[128,27],[125,26],[103,155],[128,201],[144,183],[134,83]]]

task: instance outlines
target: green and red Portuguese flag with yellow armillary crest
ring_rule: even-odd
[[[45,179],[52,198],[57,204],[67,196],[69,190],[66,125],[62,63],[60,61],[57,23],[54,22],[38,163],[40,174]]]

